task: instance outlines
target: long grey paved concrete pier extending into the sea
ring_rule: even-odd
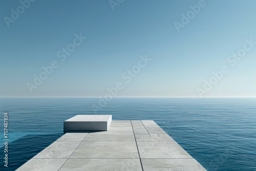
[[[66,133],[17,170],[206,169],[154,121],[132,120],[112,121],[108,131]]]

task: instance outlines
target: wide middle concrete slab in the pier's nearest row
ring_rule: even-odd
[[[135,170],[142,171],[140,159],[68,159],[60,168],[66,170]]]

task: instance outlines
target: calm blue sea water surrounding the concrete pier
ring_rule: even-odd
[[[15,170],[63,135],[64,120],[95,114],[92,105],[99,106],[99,99],[0,98],[0,170]],[[154,120],[207,170],[256,170],[255,98],[113,98],[97,114]]]

